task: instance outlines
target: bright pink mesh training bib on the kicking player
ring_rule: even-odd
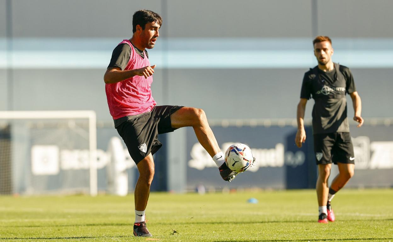
[[[131,47],[130,60],[124,70],[150,66],[146,54],[143,52],[144,58],[138,55],[129,40],[123,40],[119,44],[128,44]],[[105,84],[109,112],[113,119],[150,112],[156,106],[151,95],[152,82],[153,76],[133,76],[121,82]]]

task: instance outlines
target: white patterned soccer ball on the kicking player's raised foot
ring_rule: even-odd
[[[243,172],[253,163],[250,147],[233,144],[225,151],[225,163],[232,171]]]

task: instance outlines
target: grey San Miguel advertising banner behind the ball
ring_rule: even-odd
[[[213,133],[222,152],[235,143],[243,143],[252,149],[256,162],[244,173],[239,174],[233,182],[222,180],[219,170],[209,154],[199,144],[193,129],[187,130],[187,189],[198,185],[220,189],[226,187],[266,189],[284,189],[285,164],[298,166],[305,162],[292,151],[285,154],[286,136],[296,130],[292,126],[230,126],[212,127]]]

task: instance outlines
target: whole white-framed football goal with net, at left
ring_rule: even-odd
[[[0,111],[0,194],[97,194],[94,111]]]

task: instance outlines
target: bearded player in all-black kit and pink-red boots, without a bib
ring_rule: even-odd
[[[303,78],[300,102],[297,109],[298,132],[295,142],[298,147],[306,141],[304,113],[307,100],[315,101],[312,109],[312,133],[314,135],[314,152],[318,165],[316,191],[318,197],[318,222],[333,222],[335,216],[331,200],[335,193],[347,184],[354,175],[354,152],[349,134],[347,118],[348,93],[355,111],[354,120],[362,126],[362,104],[355,89],[353,76],[348,67],[333,63],[331,39],[317,36],[314,41],[314,55],[318,66],[307,71]],[[332,163],[337,164],[339,174],[328,185]]]

